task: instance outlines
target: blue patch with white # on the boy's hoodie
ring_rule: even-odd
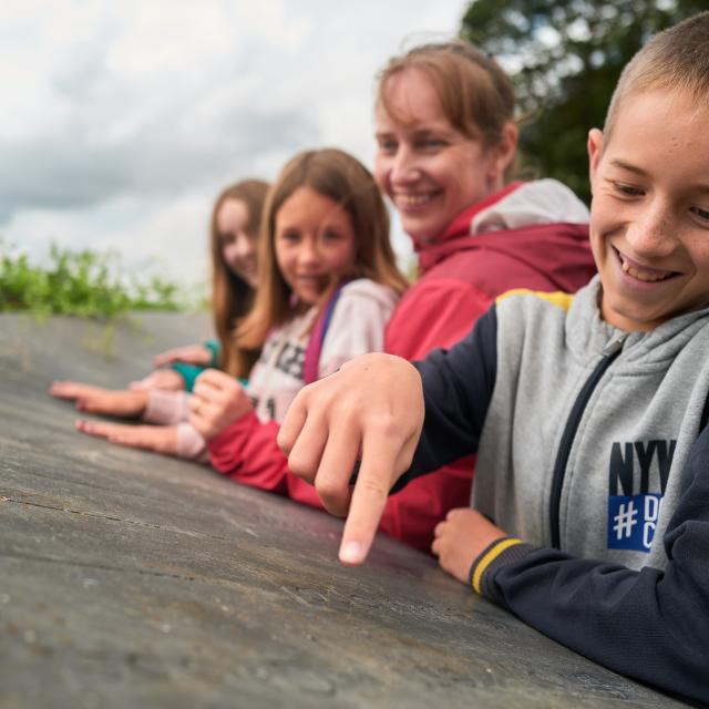
[[[653,546],[662,495],[608,497],[608,548],[645,552]]]

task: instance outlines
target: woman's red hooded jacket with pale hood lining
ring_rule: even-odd
[[[537,203],[535,186],[544,185],[554,199]],[[547,191],[547,192],[548,192]],[[534,214],[526,219],[530,205]],[[446,232],[429,245],[417,245],[420,279],[403,296],[387,328],[384,350],[407,359],[421,359],[432,349],[462,339],[495,297],[512,288],[574,292],[596,273],[586,224],[551,222],[559,212],[580,220],[585,207],[553,181],[516,183],[463,212]],[[534,222],[517,228],[503,220]],[[507,216],[510,213],[510,216]],[[545,220],[546,219],[546,220]],[[495,228],[475,233],[479,228]],[[471,234],[473,232],[473,234]],[[212,464],[247,485],[269,490],[321,507],[315,489],[288,471],[276,445],[278,424],[260,423],[250,413],[209,443]],[[412,546],[429,551],[433,527],[453,507],[470,505],[474,460],[424,475],[390,497],[381,528]]]

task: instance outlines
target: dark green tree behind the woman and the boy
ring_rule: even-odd
[[[521,63],[512,76],[530,117],[523,164],[588,201],[586,136],[603,126],[623,66],[651,34],[706,9],[707,0],[474,0],[461,34]]]

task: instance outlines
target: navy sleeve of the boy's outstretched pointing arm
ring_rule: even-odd
[[[463,340],[434,350],[414,366],[421,373],[425,419],[411,467],[392,492],[409,481],[477,451],[495,386],[497,315],[493,305]]]

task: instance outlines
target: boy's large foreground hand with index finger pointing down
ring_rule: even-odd
[[[290,405],[278,444],[290,470],[316,486],[326,510],[347,515],[343,564],[367,557],[389,491],[411,465],[422,425],[421,377],[392,354],[357,357],[302,389]]]

